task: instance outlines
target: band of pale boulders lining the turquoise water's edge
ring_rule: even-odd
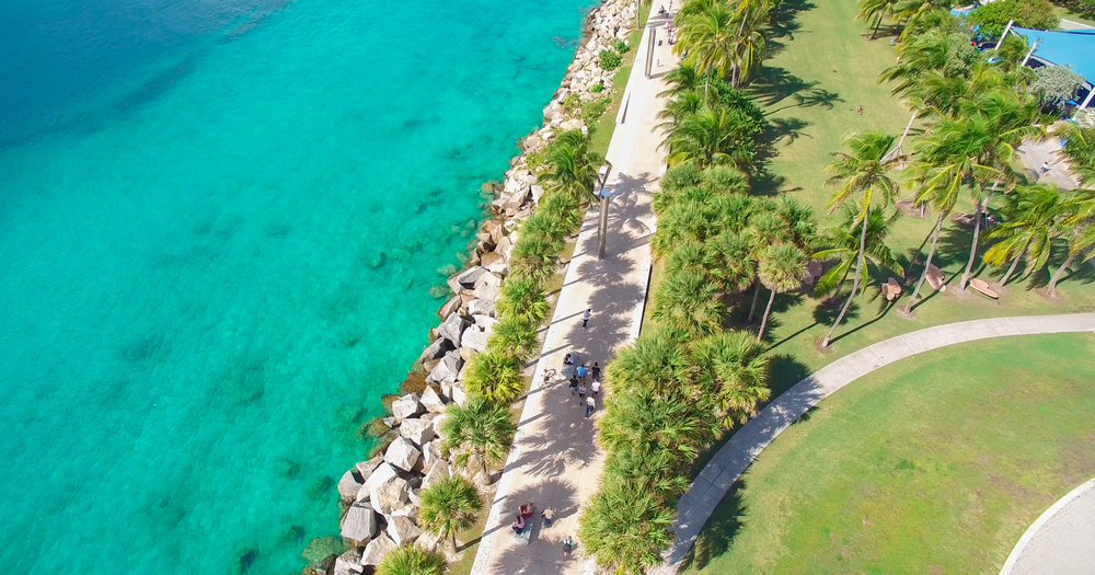
[[[371,425],[380,436],[376,457],[355,464],[338,481],[345,551],[327,554],[304,573],[368,574],[401,544],[437,549],[437,533],[417,525],[419,494],[453,473],[476,479],[473,471],[458,469],[441,456],[440,428],[447,405],[466,401],[464,366],[474,354],[486,350],[497,324],[495,302],[509,274],[517,228],[544,194],[527,168],[527,158],[551,142],[555,134],[587,130],[564,101],[572,94],[581,102],[592,101],[600,92],[595,85],[611,84],[615,71],[602,70],[599,55],[613,49],[616,41],[626,41],[636,9],[631,0],[609,0],[590,11],[583,28],[584,44],[543,111],[543,126],[523,139],[522,151],[510,161],[504,183],[484,185],[496,196],[489,208],[493,217],[475,237],[469,267],[448,279],[453,296],[437,311],[441,323],[430,330],[430,343],[402,387],[405,394],[391,403],[390,417]]]

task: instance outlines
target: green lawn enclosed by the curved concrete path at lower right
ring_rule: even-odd
[[[783,433],[715,509],[682,573],[995,575],[1095,475],[1090,334],[904,359]]]

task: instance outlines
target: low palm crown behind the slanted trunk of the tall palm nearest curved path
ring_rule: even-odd
[[[889,226],[896,220],[898,212],[886,218],[881,210],[871,210],[867,215],[867,235],[864,251],[866,261],[875,264],[876,267],[888,267],[898,276],[904,275],[904,268],[897,262],[897,256],[892,250],[886,245],[886,235],[889,233]],[[816,262],[835,262],[814,287],[816,296],[826,294],[839,294],[840,288],[848,279],[852,267],[860,260],[860,233],[856,232],[857,214],[854,209],[845,210],[844,219],[830,228],[827,228],[817,238],[815,245],[818,251],[814,253],[812,260]],[[863,267],[860,271],[861,283],[866,283],[867,271]],[[497,327],[496,327],[497,329]]]

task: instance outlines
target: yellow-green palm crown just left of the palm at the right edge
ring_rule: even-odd
[[[1065,197],[1053,184],[1019,186],[1005,196],[1002,211],[1007,219],[987,234],[989,238],[1001,238],[1002,241],[984,252],[987,264],[999,266],[1012,261],[1011,267],[1000,280],[1001,286],[1007,285],[1019,260],[1025,260],[1028,255],[1030,265],[1027,275],[1046,265],[1053,239],[1062,231],[1060,217],[1068,208]]]

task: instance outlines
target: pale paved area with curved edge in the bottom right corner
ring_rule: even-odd
[[[1015,544],[1000,575],[1095,573],[1095,479],[1046,509]]]

